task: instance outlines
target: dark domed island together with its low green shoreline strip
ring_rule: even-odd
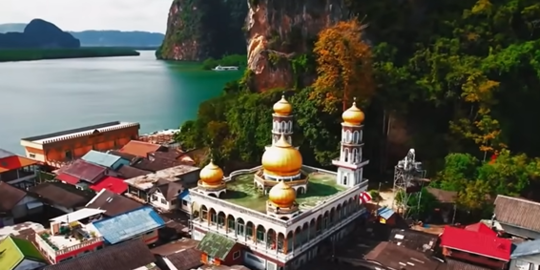
[[[134,55],[139,53],[131,49],[81,48],[73,35],[41,19],[32,20],[23,32],[0,34],[0,62]]]

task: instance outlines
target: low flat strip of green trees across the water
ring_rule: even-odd
[[[138,55],[139,52],[124,48],[8,49],[0,50],[0,62]]]

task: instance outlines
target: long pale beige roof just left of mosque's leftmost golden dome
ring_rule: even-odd
[[[193,167],[193,166],[188,166],[188,165],[179,165],[176,167],[157,171],[155,173],[131,178],[131,179],[125,180],[125,182],[128,185],[131,185],[138,189],[147,190],[149,188],[152,188],[154,186],[154,183],[157,182],[159,179],[165,179],[165,180],[174,182],[174,181],[180,180],[180,176],[190,173],[190,172],[198,171],[198,170],[200,170],[198,167]]]

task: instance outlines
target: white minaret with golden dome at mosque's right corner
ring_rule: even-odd
[[[369,160],[362,159],[364,113],[356,107],[356,98],[352,106],[343,112],[342,118],[339,159],[333,160],[332,164],[338,167],[338,184],[352,187],[362,182],[363,167],[369,163]]]

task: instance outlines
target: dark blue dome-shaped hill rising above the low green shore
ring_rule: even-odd
[[[0,48],[79,48],[78,39],[62,31],[56,25],[32,20],[22,33],[0,34]]]

